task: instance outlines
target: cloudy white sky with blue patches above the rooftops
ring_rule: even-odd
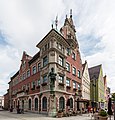
[[[23,51],[33,56],[36,44],[58,29],[73,11],[82,62],[102,64],[108,86],[115,92],[115,0],[0,0],[0,95],[17,72]]]

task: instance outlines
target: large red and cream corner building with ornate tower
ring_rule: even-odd
[[[36,45],[33,57],[23,52],[19,71],[9,82],[10,106],[55,116],[59,110],[77,111],[81,91],[82,61],[72,15],[58,32],[51,31]],[[56,73],[54,96],[50,93],[51,68]],[[69,103],[69,105],[68,105]]]

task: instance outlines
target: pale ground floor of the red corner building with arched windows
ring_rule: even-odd
[[[67,112],[68,110],[77,111],[81,108],[80,104],[76,102],[79,96],[67,94],[63,92],[55,92],[51,95],[50,92],[40,94],[24,95],[12,98],[11,105],[14,109],[17,106],[24,111],[31,111],[37,113],[55,114],[59,110]],[[51,115],[49,115],[51,116]]]

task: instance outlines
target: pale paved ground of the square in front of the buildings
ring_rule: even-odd
[[[89,116],[89,114],[62,117],[62,118],[52,118],[44,114],[37,114],[37,113],[25,112],[24,114],[17,114],[16,112],[0,111],[0,120],[57,120],[57,119],[59,120],[94,120],[94,118],[91,119],[91,116]],[[113,116],[111,120],[114,120]]]

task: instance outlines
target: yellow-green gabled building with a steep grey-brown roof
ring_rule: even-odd
[[[105,88],[102,65],[89,68],[92,107],[105,108]]]

